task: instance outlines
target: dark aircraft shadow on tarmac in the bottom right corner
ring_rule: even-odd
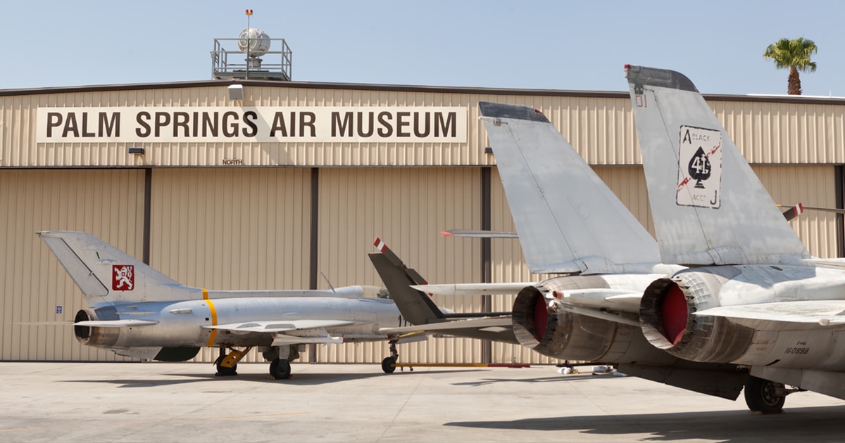
[[[562,399],[563,400],[563,399]],[[636,408],[635,405],[631,405]],[[515,419],[510,421],[450,422],[444,426],[483,429],[580,430],[584,434],[651,435],[648,440],[715,440],[725,442],[812,441],[841,442],[845,435],[845,406],[786,408],[785,413],[753,415],[742,411],[641,413]],[[589,440],[589,439],[588,439]]]

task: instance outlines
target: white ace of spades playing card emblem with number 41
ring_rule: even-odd
[[[722,194],[722,132],[681,125],[678,149],[681,206],[719,208]]]

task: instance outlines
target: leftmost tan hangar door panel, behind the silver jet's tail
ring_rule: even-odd
[[[87,303],[35,232],[84,230],[140,257],[143,205],[141,170],[0,170],[0,359],[123,360],[76,341]],[[68,323],[20,324],[46,321]]]

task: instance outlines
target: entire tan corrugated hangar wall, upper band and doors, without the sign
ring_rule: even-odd
[[[619,95],[518,95],[443,91],[314,89],[251,86],[243,105],[466,106],[467,143],[152,143],[144,156],[131,143],[35,143],[39,106],[223,106],[226,87],[103,90],[43,95],[0,95],[0,272],[3,282],[0,359],[123,359],[82,347],[69,327],[19,322],[70,321],[85,305],[36,230],[85,230],[141,257],[143,165],[345,166],[320,168],[318,195],[312,173],[292,168],[153,168],[150,194],[150,263],[184,284],[209,289],[304,289],[310,284],[310,239],[317,235],[316,273],[331,284],[377,284],[366,254],[383,238],[433,283],[481,280],[481,240],[440,236],[440,230],[480,229],[482,168],[487,135],[477,123],[477,101],[541,109],[579,149],[599,176],[653,233],[630,102]],[[836,102],[836,100],[829,100]],[[845,117],[837,103],[711,100],[711,106],[753,163],[777,203],[837,204],[837,149]],[[820,163],[821,165],[812,165]],[[13,167],[91,165],[98,170],[27,170]],[[366,166],[415,166],[401,168]],[[353,167],[354,166],[354,167]],[[432,167],[451,166],[451,167]],[[491,169],[493,230],[514,230],[498,172]],[[316,197],[316,232],[312,201]],[[837,218],[804,213],[791,222],[810,253],[837,255]],[[518,240],[492,240],[492,280],[536,281]],[[322,279],[319,288],[327,288]],[[493,311],[507,311],[513,297],[493,297]],[[481,298],[435,298],[455,311],[480,311]],[[63,314],[56,314],[61,305]],[[318,361],[379,362],[385,343],[317,347]],[[402,361],[478,362],[482,344],[434,338],[401,345]],[[204,350],[198,359],[215,359]],[[532,351],[493,344],[493,361],[548,363]],[[252,353],[248,361],[260,360]]]

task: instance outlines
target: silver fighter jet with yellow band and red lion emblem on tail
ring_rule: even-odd
[[[220,348],[218,375],[235,375],[237,362],[258,347],[270,375],[286,379],[305,343],[424,340],[380,328],[406,323],[386,289],[209,290],[179,284],[85,232],[39,232],[81,289],[88,307],[74,318],[80,343],[140,359],[185,361],[199,348]],[[383,368],[384,363],[383,363]],[[387,370],[385,370],[387,371]]]

